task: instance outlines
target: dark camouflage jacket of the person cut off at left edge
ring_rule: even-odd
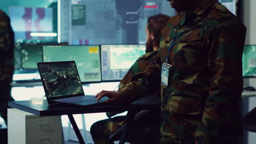
[[[0,82],[11,82],[14,73],[14,32],[10,19],[0,10]]]

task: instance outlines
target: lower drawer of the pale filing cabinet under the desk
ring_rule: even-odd
[[[27,133],[27,144],[59,144],[62,143],[62,131],[36,131]]]

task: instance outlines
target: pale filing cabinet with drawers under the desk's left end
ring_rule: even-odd
[[[18,109],[8,109],[8,143],[62,143],[61,116],[39,117]]]

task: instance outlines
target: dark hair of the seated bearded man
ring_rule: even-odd
[[[170,16],[165,14],[157,14],[148,17],[148,32],[149,34],[154,35],[154,41],[156,46],[159,47],[161,39],[161,29],[166,26],[167,21],[170,19]]]

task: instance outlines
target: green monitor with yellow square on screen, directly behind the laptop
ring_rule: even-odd
[[[75,61],[83,83],[100,82],[100,45],[43,46],[43,62]]]

